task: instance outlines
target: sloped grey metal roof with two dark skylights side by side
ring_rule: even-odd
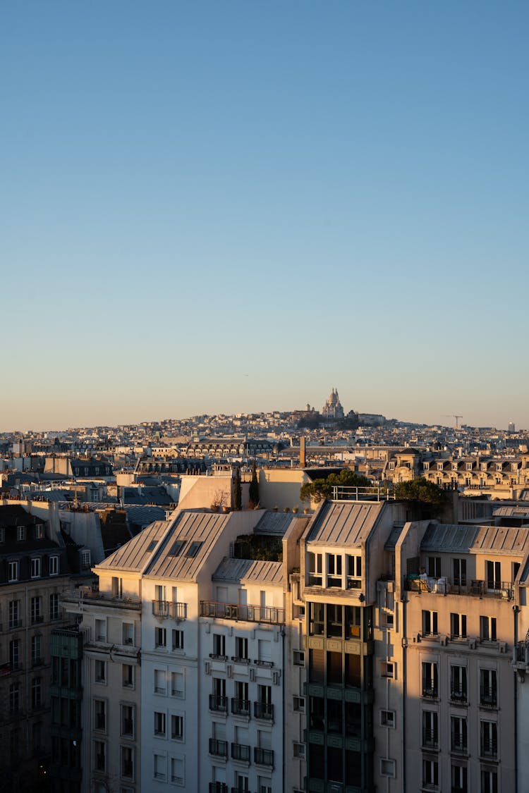
[[[156,555],[154,561],[145,570],[145,574],[157,577],[179,578],[180,580],[196,580],[197,573],[208,557],[224,530],[230,515],[217,512],[181,511],[174,516],[171,532],[167,535],[167,544],[163,551]],[[185,542],[178,556],[171,555],[171,548],[176,542]],[[186,556],[192,542],[201,542],[197,554]]]

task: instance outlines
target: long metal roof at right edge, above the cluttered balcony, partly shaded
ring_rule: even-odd
[[[529,546],[529,531],[518,527],[458,526],[431,523],[420,544],[424,551],[460,554],[523,556]]]

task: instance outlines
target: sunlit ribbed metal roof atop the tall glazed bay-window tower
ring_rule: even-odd
[[[307,542],[359,547],[369,536],[384,504],[328,501],[316,514]]]

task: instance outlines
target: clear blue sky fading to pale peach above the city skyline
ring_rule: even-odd
[[[0,6],[0,430],[529,427],[527,2]]]

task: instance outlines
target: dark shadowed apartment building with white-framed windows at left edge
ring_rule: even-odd
[[[50,634],[68,587],[58,527],[32,504],[0,503],[0,770],[10,791],[39,783],[50,760]]]

